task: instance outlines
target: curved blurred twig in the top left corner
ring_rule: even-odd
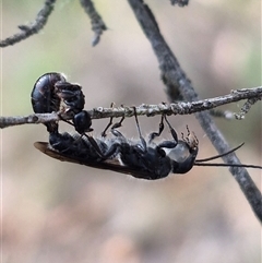
[[[0,41],[0,47],[8,47],[28,38],[29,36],[37,34],[47,23],[49,15],[53,10],[56,0],[46,0],[44,7],[38,12],[34,22],[29,23],[28,25],[19,25],[21,29],[20,33],[14,34],[11,37],[8,37]]]

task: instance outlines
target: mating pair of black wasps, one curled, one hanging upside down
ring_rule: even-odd
[[[106,136],[107,125],[100,138],[93,138],[86,132],[93,131],[92,120],[87,111],[83,110],[85,97],[78,84],[67,82],[60,73],[47,73],[38,79],[32,92],[33,109],[37,113],[63,111],[72,116],[78,133],[59,133],[58,123],[46,123],[49,132],[49,143],[36,142],[34,145],[40,152],[59,160],[91,166],[98,169],[107,169],[131,175],[135,178],[156,180],[167,177],[169,174],[186,174],[193,166],[227,166],[259,168],[253,165],[233,164],[206,164],[233,153],[241,147],[239,145],[231,151],[205,159],[196,159],[199,141],[188,129],[188,136],[182,135],[178,140],[177,132],[171,127],[167,117],[162,116],[159,131],[150,134],[148,140],[142,136],[138,116],[134,108],[135,124],[139,132],[139,141],[127,139],[117,128],[120,122],[114,124],[110,136]],[[160,136],[164,122],[168,125],[171,140],[155,143],[155,138]],[[111,120],[110,120],[111,123]]]

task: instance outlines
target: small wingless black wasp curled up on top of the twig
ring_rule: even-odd
[[[92,131],[91,117],[87,111],[83,110],[85,96],[82,87],[67,82],[61,73],[50,72],[41,75],[34,85],[31,101],[36,113],[61,111],[72,115],[73,125],[79,133]],[[58,131],[57,122],[48,122],[45,125],[48,132]]]

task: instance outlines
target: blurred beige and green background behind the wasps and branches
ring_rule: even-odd
[[[2,0],[1,39],[32,22],[43,0]],[[159,28],[201,98],[261,85],[260,1],[194,0],[187,8],[147,1]],[[127,1],[96,0],[108,31],[96,47],[79,1],[58,1],[44,31],[1,49],[1,116],[33,112],[31,92],[46,72],[80,83],[86,109],[167,101],[157,60]],[[239,111],[243,101],[222,109]],[[159,117],[140,117],[144,135]],[[193,116],[199,158],[216,152]],[[261,104],[242,121],[216,119],[238,156],[261,164]],[[94,120],[94,135],[108,120]],[[72,131],[70,125],[61,130]],[[121,132],[135,138],[134,119]],[[170,138],[168,132],[164,133]],[[261,261],[261,225],[227,168],[194,167],[183,176],[144,181],[61,163],[34,148],[44,125],[1,131],[3,262],[248,263]],[[261,170],[250,176],[261,188]]]

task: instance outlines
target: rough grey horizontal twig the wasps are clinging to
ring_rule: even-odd
[[[248,99],[248,101],[241,108],[239,113],[233,113],[230,111],[221,111],[218,117],[224,117],[225,119],[243,119],[245,115],[248,113],[251,106],[259,101],[262,97],[262,87],[253,87],[253,88],[242,88],[237,91],[231,91],[230,94],[225,96],[219,96],[215,98],[207,98],[198,101],[181,101],[174,104],[158,104],[158,105],[141,105],[138,106],[136,115],[138,116],[155,116],[155,115],[191,115],[195,112],[200,112],[203,110],[214,109],[218,106],[231,104],[236,101],[240,101],[242,99]],[[88,113],[92,119],[103,119],[110,117],[133,117],[134,109],[133,107],[120,106],[112,108],[103,108],[97,107],[92,110],[88,110]],[[214,113],[217,116],[217,113]],[[63,112],[53,112],[53,113],[35,113],[25,117],[0,117],[0,128],[8,128],[12,125],[21,125],[21,124],[38,124],[38,123],[47,123],[50,121],[59,121],[62,119],[70,120],[72,116],[68,116]]]

